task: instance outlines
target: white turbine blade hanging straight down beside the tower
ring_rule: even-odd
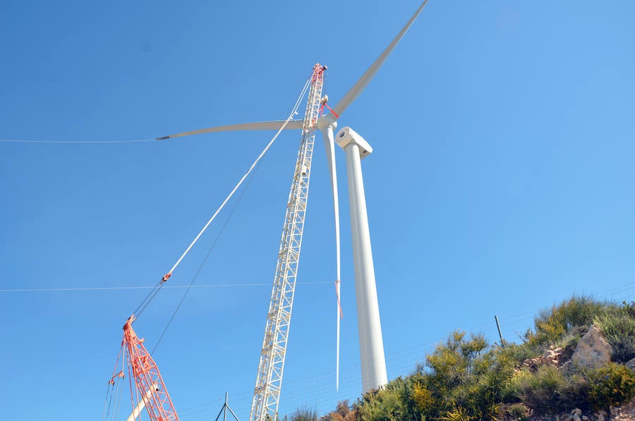
[[[339,195],[337,193],[337,170],[335,166],[335,141],[333,136],[334,124],[322,127],[324,146],[329,163],[329,174],[331,176],[331,189],[333,191],[333,210],[335,217],[335,261],[336,274],[335,292],[337,295],[337,339],[336,339],[336,359],[335,359],[335,389],[339,389],[339,324],[341,317],[341,303],[339,300],[339,276],[340,276],[340,248],[339,248]]]

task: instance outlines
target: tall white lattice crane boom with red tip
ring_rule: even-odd
[[[250,420],[277,419],[286,344],[289,340],[291,309],[294,304],[298,260],[304,230],[308,186],[315,141],[315,122],[320,114],[326,66],[315,64],[304,114],[302,138],[294,179],[286,204],[282,239],[276,264],[271,302],[262,340]]]

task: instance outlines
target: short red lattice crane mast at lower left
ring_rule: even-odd
[[[139,396],[145,401],[145,409],[152,421],[179,421],[174,405],[165,388],[157,363],[143,346],[132,328],[135,316],[123,325],[123,344],[128,350],[130,364]]]

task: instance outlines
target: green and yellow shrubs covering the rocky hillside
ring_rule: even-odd
[[[595,325],[612,347],[599,368],[571,364],[576,345]],[[562,348],[562,349],[560,349]],[[545,355],[557,350],[557,360]],[[452,332],[409,376],[364,393],[317,417],[296,410],[290,420],[524,420],[579,408],[608,410],[635,396],[635,304],[571,297],[534,320],[522,343],[490,345],[482,335]]]

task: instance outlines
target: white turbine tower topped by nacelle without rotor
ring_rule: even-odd
[[[361,170],[361,158],[368,156],[373,149],[349,127],[341,129],[336,139],[346,152],[362,390],[369,391],[388,382]]]

